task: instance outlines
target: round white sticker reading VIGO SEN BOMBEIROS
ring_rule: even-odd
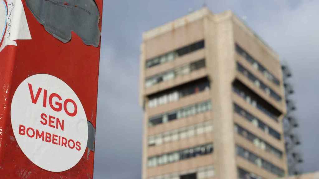
[[[12,99],[11,124],[23,153],[45,170],[68,170],[85,152],[84,108],[70,86],[55,76],[33,75],[19,85]]]

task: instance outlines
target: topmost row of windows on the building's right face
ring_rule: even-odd
[[[280,84],[279,80],[274,75],[272,75],[265,67],[263,67],[262,64],[256,61],[244,49],[239,47],[238,44],[236,44],[236,51],[238,54],[243,56],[250,64],[252,64],[255,69],[258,69],[260,72],[262,72],[267,79],[269,79],[271,82],[275,83],[276,85]]]

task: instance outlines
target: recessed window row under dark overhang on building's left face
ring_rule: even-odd
[[[181,87],[175,87],[173,90],[156,95],[155,97],[150,97],[150,100],[148,101],[148,107],[153,108],[162,104],[178,101],[180,98],[209,89],[210,85],[208,80],[192,82],[190,84],[187,83]]]

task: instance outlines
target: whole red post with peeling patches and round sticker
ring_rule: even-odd
[[[0,0],[0,178],[93,178],[102,1]]]

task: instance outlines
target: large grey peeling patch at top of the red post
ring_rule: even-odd
[[[71,31],[86,45],[100,44],[100,14],[94,0],[27,0],[27,7],[47,32],[67,43]]]

